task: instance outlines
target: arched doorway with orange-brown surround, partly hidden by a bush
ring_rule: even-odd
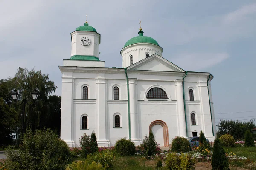
[[[152,130],[154,136],[156,137],[157,143],[160,146],[169,147],[169,132],[168,127],[162,120],[155,120],[149,125],[149,132]]]

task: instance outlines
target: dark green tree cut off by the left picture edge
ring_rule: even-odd
[[[0,146],[12,143],[17,126],[18,114],[0,97]]]

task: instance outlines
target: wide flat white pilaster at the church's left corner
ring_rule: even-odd
[[[62,74],[61,139],[69,147],[75,147],[73,139],[73,77],[72,72]]]

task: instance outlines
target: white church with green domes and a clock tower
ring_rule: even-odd
[[[105,67],[101,35],[87,22],[71,40],[71,57],[59,66],[61,139],[69,147],[79,147],[79,138],[93,131],[99,147],[121,138],[140,145],[150,130],[160,146],[169,146],[175,136],[199,136],[200,130],[214,141],[210,73],[185,71],[168,61],[142,28],[120,49],[122,68]]]

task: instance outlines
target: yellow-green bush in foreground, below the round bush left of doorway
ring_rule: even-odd
[[[103,167],[111,168],[114,161],[114,155],[111,150],[102,150],[101,152],[95,152],[87,155],[87,159],[102,164]]]

